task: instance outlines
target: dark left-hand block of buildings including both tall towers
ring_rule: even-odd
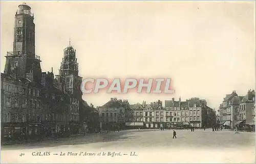
[[[31,8],[19,5],[15,14],[13,52],[7,52],[1,73],[2,134],[51,135],[78,132],[78,63],[71,45],[65,49],[59,75],[41,72],[35,55],[35,24]],[[62,131],[62,132],[61,132]],[[2,136],[3,136],[2,135]]]

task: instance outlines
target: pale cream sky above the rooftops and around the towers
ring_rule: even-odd
[[[23,2],[1,1],[1,72],[13,48],[14,15]],[[34,13],[36,55],[58,74],[63,49],[76,49],[83,78],[172,78],[174,94],[84,95],[142,101],[206,99],[255,88],[255,2],[26,2]]]

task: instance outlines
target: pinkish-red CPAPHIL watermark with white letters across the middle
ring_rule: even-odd
[[[80,89],[83,93],[174,93],[170,87],[170,78],[86,78],[82,80]]]

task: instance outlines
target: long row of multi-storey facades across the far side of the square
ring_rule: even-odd
[[[103,126],[116,125],[140,128],[169,128],[177,126],[211,127],[216,123],[215,110],[207,106],[205,100],[191,98],[186,101],[158,100],[147,104],[131,104],[125,100],[111,98],[103,106],[97,107]]]

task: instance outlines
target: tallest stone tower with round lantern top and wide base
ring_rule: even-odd
[[[40,62],[35,55],[34,14],[28,5],[19,5],[15,14],[13,52],[7,52],[4,73],[39,83]]]

